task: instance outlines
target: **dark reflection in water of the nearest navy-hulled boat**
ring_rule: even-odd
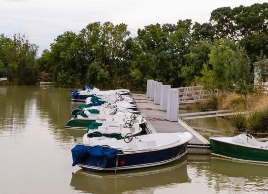
[[[187,175],[187,156],[172,163],[115,172],[89,172],[78,170],[73,173],[71,187],[89,193],[122,193],[142,191],[153,193],[156,187],[170,187],[177,183],[190,182]],[[141,190],[142,189],[142,190]]]

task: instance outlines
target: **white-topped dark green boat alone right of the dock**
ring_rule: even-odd
[[[211,137],[211,154],[249,163],[268,164],[268,141],[257,141],[251,134]]]

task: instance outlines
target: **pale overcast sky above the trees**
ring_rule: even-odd
[[[0,0],[0,34],[11,37],[26,32],[39,52],[64,31],[78,33],[88,23],[126,23],[131,36],[138,28],[155,23],[176,23],[179,19],[208,22],[218,7],[249,6],[254,0]]]

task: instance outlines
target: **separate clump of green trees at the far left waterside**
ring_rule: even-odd
[[[0,35],[0,77],[9,84],[32,84],[37,77],[38,46],[29,43],[25,34],[14,34],[13,39]]]

